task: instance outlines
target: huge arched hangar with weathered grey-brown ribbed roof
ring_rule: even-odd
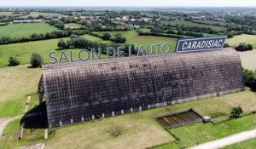
[[[245,89],[235,49],[43,66],[49,129]]]

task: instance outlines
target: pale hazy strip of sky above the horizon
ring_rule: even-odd
[[[3,6],[256,7],[256,0],[0,0]]]

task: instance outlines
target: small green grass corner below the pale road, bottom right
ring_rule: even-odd
[[[237,143],[235,145],[231,146],[225,146],[222,149],[241,149],[241,148],[254,148],[256,146],[256,138],[251,139],[251,140],[245,140],[243,142]]]

